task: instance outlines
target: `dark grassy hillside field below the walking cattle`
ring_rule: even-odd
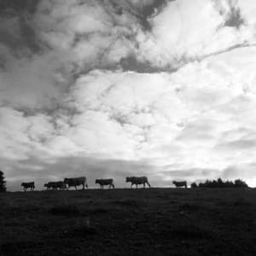
[[[0,194],[0,255],[256,255],[255,189]]]

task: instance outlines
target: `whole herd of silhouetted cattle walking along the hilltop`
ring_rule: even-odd
[[[145,188],[146,184],[148,185],[148,188],[150,188],[150,184],[148,183],[148,177],[126,177],[126,183],[131,183],[131,188],[133,185],[136,185],[136,188],[138,185],[143,184],[143,188]],[[100,185],[100,188],[103,189],[104,186],[108,186],[109,189],[113,188],[114,189],[114,184],[113,184],[113,178],[102,178],[102,179],[96,179],[96,184]],[[182,182],[177,182],[173,181],[172,182],[177,188],[184,187],[187,188],[187,182],[182,181]],[[33,191],[35,189],[35,183],[30,182],[30,183],[21,183],[21,186],[23,187],[24,191],[27,189],[30,189]],[[76,190],[78,189],[77,187],[82,186],[82,189],[84,190],[85,188],[88,188],[88,183],[86,177],[65,177],[64,181],[58,181],[58,182],[49,182],[45,183],[44,187],[47,190],[66,190],[71,187],[74,187]]]

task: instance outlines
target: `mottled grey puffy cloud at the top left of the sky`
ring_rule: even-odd
[[[115,5],[87,1],[41,2],[34,20],[38,37],[75,65],[73,72],[115,65],[133,49],[129,37],[140,27]]]

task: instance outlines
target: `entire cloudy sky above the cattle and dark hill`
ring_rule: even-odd
[[[256,186],[254,0],[1,0],[8,189],[85,176]]]

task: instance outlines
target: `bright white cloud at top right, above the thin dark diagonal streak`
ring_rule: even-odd
[[[180,0],[167,3],[149,18],[151,32],[137,35],[142,58],[153,65],[172,69],[232,47],[254,44],[252,16],[255,10],[248,12],[248,2],[236,2]]]

